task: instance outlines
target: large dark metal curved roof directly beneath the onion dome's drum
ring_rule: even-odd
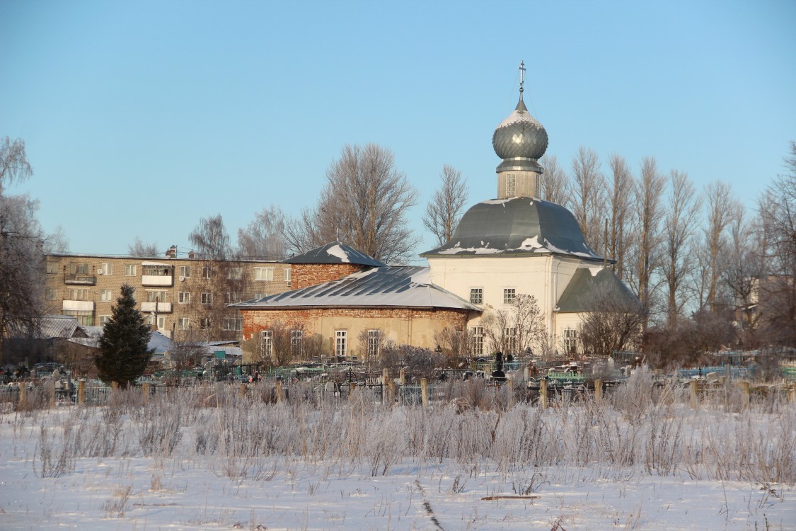
[[[493,199],[472,206],[450,241],[420,256],[540,254],[603,260],[586,244],[568,209],[537,197]]]

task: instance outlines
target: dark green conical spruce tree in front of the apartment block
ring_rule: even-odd
[[[121,388],[127,388],[144,373],[154,352],[147,348],[150,329],[135,307],[134,293],[131,285],[122,286],[122,295],[111,308],[111,320],[105,323],[100,338],[100,353],[94,357],[102,381],[115,381]]]

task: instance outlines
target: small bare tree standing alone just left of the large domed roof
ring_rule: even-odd
[[[467,202],[467,183],[462,178],[462,172],[447,164],[443,166],[443,173],[439,174],[442,185],[434,192],[434,197],[428,201],[426,214],[423,216],[423,227],[437,237],[439,245],[451,240],[456,230],[462,209]]]

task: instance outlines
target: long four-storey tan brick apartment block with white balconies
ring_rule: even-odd
[[[240,338],[240,312],[229,303],[291,289],[291,264],[275,261],[50,254],[45,271],[46,313],[102,326],[127,283],[147,322],[169,337]]]

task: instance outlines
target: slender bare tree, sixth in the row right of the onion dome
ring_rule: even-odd
[[[719,280],[722,275],[720,256],[727,245],[727,228],[738,212],[737,201],[732,198],[732,189],[725,182],[715,181],[705,188],[708,209],[708,226],[705,228],[705,248],[708,251],[708,295],[706,302],[712,312],[716,311]]]

